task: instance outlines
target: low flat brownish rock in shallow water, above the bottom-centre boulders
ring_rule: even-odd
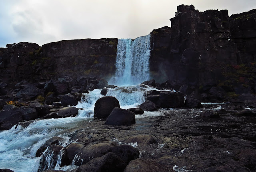
[[[132,136],[125,140],[126,143],[138,143],[140,145],[154,144],[156,140],[149,134]]]

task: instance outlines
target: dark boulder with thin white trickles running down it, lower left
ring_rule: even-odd
[[[52,144],[42,155],[39,162],[38,172],[54,170],[57,162],[61,167],[67,164],[67,150],[63,146]]]

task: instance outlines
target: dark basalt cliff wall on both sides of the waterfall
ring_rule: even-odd
[[[152,79],[186,95],[212,91],[218,100],[256,93],[256,9],[228,16],[227,10],[199,12],[180,5],[170,21],[171,27],[150,33]],[[108,80],[116,71],[117,44],[116,38],[64,40],[42,47],[8,44],[0,49],[0,78],[4,83]]]

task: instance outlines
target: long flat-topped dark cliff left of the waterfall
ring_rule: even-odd
[[[116,38],[65,40],[42,45],[8,44],[0,49],[3,82],[38,82],[59,77],[102,77],[115,73]]]

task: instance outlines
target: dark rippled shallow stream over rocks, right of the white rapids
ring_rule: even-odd
[[[135,124],[124,126],[107,126],[104,120],[93,119],[90,123],[84,121],[87,128],[78,128],[70,137],[83,145],[108,140],[112,146],[135,146],[140,159],[131,161],[127,171],[136,165],[149,167],[148,162],[167,171],[255,171],[256,118],[237,115],[241,110],[230,110],[234,105],[239,104],[203,103],[203,109],[158,109],[155,113],[159,116],[136,115]],[[220,118],[202,119],[200,114],[207,109],[218,112]],[[255,109],[250,111],[255,113]]]

